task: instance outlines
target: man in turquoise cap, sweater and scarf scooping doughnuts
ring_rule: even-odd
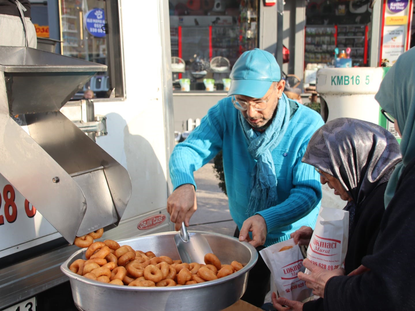
[[[322,197],[318,173],[301,162],[320,115],[289,100],[275,57],[244,52],[230,74],[228,97],[211,107],[169,162],[174,191],[170,220],[180,229],[197,209],[193,172],[220,150],[235,236],[257,250],[287,240],[301,226],[314,227]],[[242,299],[261,307],[270,271],[262,260],[249,272]]]

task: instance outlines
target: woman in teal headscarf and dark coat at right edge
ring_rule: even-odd
[[[404,79],[402,77],[405,77]],[[305,259],[310,275],[299,272],[313,294],[323,299],[325,310],[414,310],[415,309],[415,48],[399,56],[389,69],[375,99],[402,137],[398,163],[386,186],[386,207],[373,253],[361,266],[344,275],[344,270],[324,270]],[[275,300],[288,305],[286,299]]]

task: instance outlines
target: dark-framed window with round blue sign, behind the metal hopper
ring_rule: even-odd
[[[61,52],[108,66],[86,83],[74,99],[92,90],[94,97],[123,97],[118,1],[60,0]],[[117,83],[117,82],[118,83]]]

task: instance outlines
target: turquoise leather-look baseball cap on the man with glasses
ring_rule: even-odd
[[[274,81],[281,80],[280,66],[275,57],[264,50],[246,51],[235,62],[228,96],[263,97]]]

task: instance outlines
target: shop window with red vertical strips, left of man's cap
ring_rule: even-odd
[[[258,8],[257,0],[170,0],[173,90],[224,90],[237,58],[258,47]]]

